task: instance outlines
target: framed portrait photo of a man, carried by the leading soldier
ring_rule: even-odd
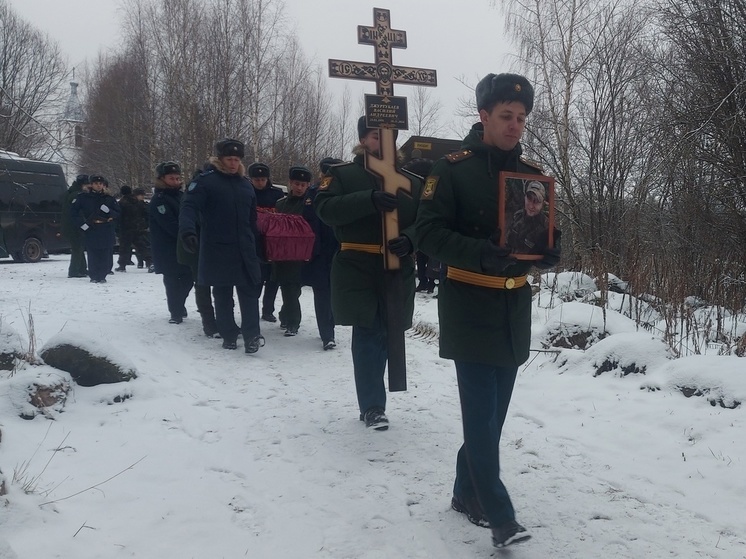
[[[554,178],[503,171],[498,189],[500,246],[518,260],[541,260],[554,246]]]

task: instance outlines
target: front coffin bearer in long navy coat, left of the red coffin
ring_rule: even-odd
[[[256,245],[256,194],[241,161],[243,143],[226,138],[215,145],[215,152],[205,171],[187,187],[179,236],[185,250],[199,250],[198,283],[212,286],[223,348],[236,349],[240,333],[246,353],[256,353],[264,345],[259,327],[262,274]],[[233,315],[234,288],[241,309],[240,328]]]

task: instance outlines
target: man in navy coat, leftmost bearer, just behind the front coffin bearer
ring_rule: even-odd
[[[192,290],[192,271],[179,264],[176,245],[179,238],[179,209],[183,186],[181,167],[172,161],[159,163],[150,201],[148,221],[153,266],[156,274],[163,274],[166,304],[171,314],[169,324],[181,324],[187,316],[186,299]]]

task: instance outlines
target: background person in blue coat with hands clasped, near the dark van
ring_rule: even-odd
[[[101,175],[91,175],[91,190],[82,192],[72,203],[74,223],[84,232],[91,283],[106,283],[114,265],[114,226],[119,204],[106,187]]]

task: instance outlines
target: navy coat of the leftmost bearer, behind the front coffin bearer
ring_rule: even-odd
[[[179,209],[183,195],[181,188],[167,188],[162,182],[156,182],[153,189],[153,198],[148,204],[148,221],[156,274],[179,276],[190,273],[189,266],[179,264],[176,258]]]

